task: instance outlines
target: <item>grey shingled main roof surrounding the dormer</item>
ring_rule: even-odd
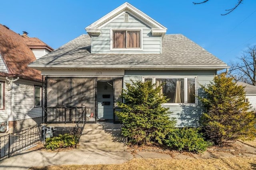
[[[80,35],[29,64],[33,68],[217,69],[227,64],[181,34],[165,35],[162,54],[91,54],[89,35]]]

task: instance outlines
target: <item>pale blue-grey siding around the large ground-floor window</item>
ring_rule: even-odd
[[[131,80],[139,80],[142,81],[143,77],[145,78],[153,78],[158,76],[181,76],[181,77],[197,77],[198,96],[204,96],[205,94],[202,92],[201,85],[209,84],[210,81],[213,80],[214,74],[216,74],[215,70],[125,70],[124,75],[124,88],[125,82],[131,82]],[[249,99],[250,100],[250,99]],[[169,111],[172,113],[169,117],[176,118],[176,126],[177,127],[197,127],[199,124],[199,118],[204,111],[204,107],[198,104],[164,104],[164,107],[169,108]]]

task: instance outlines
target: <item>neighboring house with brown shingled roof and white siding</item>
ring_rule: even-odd
[[[0,124],[8,132],[42,123],[41,72],[27,65],[53,49],[27,34],[0,24]]]

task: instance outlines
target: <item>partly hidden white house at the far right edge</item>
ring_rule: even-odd
[[[236,84],[244,86],[244,91],[246,92],[245,102],[249,102],[252,110],[256,110],[256,86],[244,82],[236,82]]]

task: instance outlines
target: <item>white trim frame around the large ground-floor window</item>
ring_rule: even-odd
[[[198,77],[197,76],[143,76],[142,77],[142,81],[145,82],[145,78],[152,78],[153,79],[153,83],[156,83],[156,79],[159,78],[184,78],[184,103],[165,103],[163,104],[163,106],[180,106],[180,105],[198,105],[198,98],[195,97],[195,103],[188,103],[188,78],[195,78],[195,95],[198,96]]]

